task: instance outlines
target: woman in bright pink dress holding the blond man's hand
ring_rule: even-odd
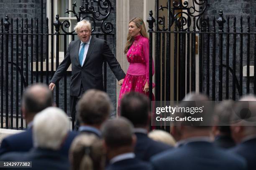
[[[118,115],[120,115],[120,101],[125,93],[135,91],[149,95],[149,40],[146,27],[143,20],[138,17],[131,19],[128,26],[129,32],[124,53],[127,54],[130,65],[118,98]],[[152,72],[154,74],[153,61]]]

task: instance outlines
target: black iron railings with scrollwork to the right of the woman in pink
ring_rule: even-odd
[[[256,69],[250,72],[250,67],[256,68],[256,20],[252,22],[248,16],[243,25],[245,18],[225,18],[222,11],[215,15],[217,19],[209,18],[204,15],[207,0],[188,4],[168,0],[166,7],[159,7],[156,0],[156,20],[152,11],[149,13],[156,100],[182,100],[192,91],[205,93],[212,100],[238,100],[241,95],[256,94],[252,77]],[[159,15],[163,10],[167,17]]]

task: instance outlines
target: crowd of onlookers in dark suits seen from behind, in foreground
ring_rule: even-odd
[[[208,100],[202,94],[187,96]],[[256,101],[256,97],[245,96],[241,101]],[[256,110],[255,105],[235,103],[226,100],[216,106],[218,121],[232,121],[236,107]],[[109,118],[111,109],[105,92],[87,90],[77,104],[80,127],[70,131],[67,114],[54,107],[49,88],[28,87],[22,100],[28,129],[3,139],[0,161],[31,161],[32,169],[38,170],[256,169],[256,127],[243,121],[232,126],[180,123],[171,126],[171,133],[153,130],[148,134],[151,112],[146,95],[125,94],[118,118]]]

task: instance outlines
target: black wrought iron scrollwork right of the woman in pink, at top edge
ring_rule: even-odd
[[[168,7],[168,2],[170,0],[167,0],[166,6],[157,4],[157,14],[156,14],[156,28],[157,30],[166,31],[167,28],[170,28],[175,20],[177,20],[177,28],[181,29],[184,28],[184,30],[187,30],[191,26],[191,21],[193,17],[196,17],[196,27],[199,30],[206,29],[206,26],[208,25],[207,20],[201,19],[201,16],[205,13],[205,10],[207,8],[208,1],[207,0],[192,0],[192,5],[189,6],[188,0],[182,2],[182,0],[174,0],[172,2],[172,7]],[[156,3],[158,3],[157,1]],[[170,8],[170,9],[169,9]],[[159,16],[159,11],[168,10],[169,16],[168,16],[168,23],[170,25],[165,25],[166,22],[164,19],[166,16],[162,15]]]

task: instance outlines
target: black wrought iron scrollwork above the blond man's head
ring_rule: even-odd
[[[66,10],[65,13],[73,13],[74,17],[77,18],[77,22],[87,19],[91,21],[92,24],[92,32],[95,31],[96,28],[96,20],[101,21],[100,29],[103,33],[109,34],[113,31],[113,24],[110,22],[106,22],[108,16],[110,15],[111,11],[113,10],[112,4],[110,0],[83,0],[83,6],[79,7],[79,12],[75,11],[75,7],[77,1],[75,1],[72,5],[72,10]],[[93,5],[92,5],[93,4]],[[94,5],[96,4],[96,5]],[[56,18],[57,19],[57,18]],[[57,19],[59,20],[59,18]],[[61,23],[61,30],[66,34],[72,34],[72,32],[67,32],[65,28],[70,27],[69,20],[64,20]]]

